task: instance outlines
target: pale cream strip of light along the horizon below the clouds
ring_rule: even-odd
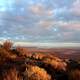
[[[4,41],[0,41],[0,44],[3,44]],[[80,43],[73,43],[73,42],[18,42],[13,41],[13,46],[23,46],[23,47],[40,47],[40,48],[76,48],[80,47]]]

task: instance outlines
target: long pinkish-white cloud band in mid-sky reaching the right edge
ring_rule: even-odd
[[[80,22],[79,21],[56,21],[54,19],[48,19],[48,20],[40,20],[38,23],[36,23],[38,27],[41,27],[42,29],[51,30],[52,28],[58,27],[59,29],[62,29],[64,32],[64,29],[67,31],[80,31]]]

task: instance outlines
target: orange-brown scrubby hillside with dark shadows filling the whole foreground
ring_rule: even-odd
[[[6,41],[0,47],[0,80],[80,80],[80,63]]]

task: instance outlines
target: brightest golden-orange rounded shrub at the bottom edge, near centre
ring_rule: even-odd
[[[51,76],[43,68],[28,66],[26,68],[28,80],[51,80]]]

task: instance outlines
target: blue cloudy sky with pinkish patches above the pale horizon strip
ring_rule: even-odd
[[[80,42],[80,0],[0,0],[0,40]]]

